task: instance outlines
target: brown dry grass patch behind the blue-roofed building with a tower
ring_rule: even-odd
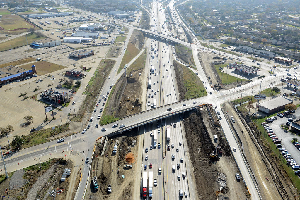
[[[23,68],[23,69],[30,70],[32,65],[36,66],[38,75],[48,74],[48,73],[51,73],[51,72],[55,72],[59,69],[64,69],[65,68],[62,65],[59,66],[58,64],[49,63],[47,61],[38,61],[38,62],[35,62],[35,63],[31,63],[31,64],[21,65],[20,67]]]

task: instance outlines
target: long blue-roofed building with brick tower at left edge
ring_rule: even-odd
[[[24,71],[20,72],[22,70]],[[25,79],[27,76],[31,76],[34,73],[36,74],[35,65],[32,65],[30,70],[25,70],[15,66],[2,67],[0,68],[0,75],[1,75],[0,84],[5,84],[20,79]]]

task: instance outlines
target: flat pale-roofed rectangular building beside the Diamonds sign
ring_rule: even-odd
[[[257,104],[258,110],[267,114],[275,113],[283,110],[286,104],[292,104],[293,100],[279,96],[262,103]]]

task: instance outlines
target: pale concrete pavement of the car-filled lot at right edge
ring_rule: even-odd
[[[276,134],[276,137],[281,140],[282,147],[285,148],[287,151],[289,151],[289,154],[291,154],[291,157],[295,159],[295,162],[297,164],[300,164],[300,151],[295,148],[295,146],[292,144],[292,138],[298,138],[298,141],[300,141],[300,136],[293,134],[291,132],[284,131],[280,125],[286,125],[286,122],[288,122],[289,118],[292,118],[294,121],[300,117],[300,111],[296,110],[295,113],[290,113],[287,116],[279,117],[277,116],[277,119],[273,122],[269,122],[268,125],[270,128],[273,129],[274,133]]]

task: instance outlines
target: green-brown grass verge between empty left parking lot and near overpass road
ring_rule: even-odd
[[[48,119],[52,119],[51,116],[48,116]],[[47,140],[48,137],[55,136],[59,133],[62,133],[64,131],[70,130],[69,124],[63,124],[62,126],[55,126],[55,128],[52,130],[52,128],[47,129],[41,129],[39,131],[35,131],[30,133],[28,136],[26,136],[26,139],[22,143],[21,148],[27,148],[31,146],[35,146],[38,144],[46,143],[49,140]]]

